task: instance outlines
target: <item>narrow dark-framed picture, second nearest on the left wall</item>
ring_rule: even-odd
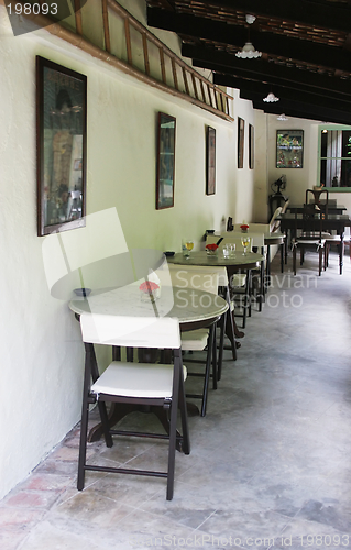
[[[174,206],[176,119],[158,112],[157,125],[157,166],[156,166],[156,209]]]

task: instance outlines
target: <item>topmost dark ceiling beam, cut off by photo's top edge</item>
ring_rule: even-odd
[[[244,13],[252,13],[260,16],[277,18],[296,23],[306,23],[312,26],[320,26],[329,30],[350,32],[351,29],[351,6],[345,7],[336,3],[326,3],[314,0],[299,0],[298,9],[294,2],[282,2],[281,0],[211,0],[211,7],[240,10]],[[274,14],[274,15],[273,15]]]

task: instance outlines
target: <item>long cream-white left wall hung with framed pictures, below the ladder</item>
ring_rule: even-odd
[[[237,120],[136,82],[44,30],[13,37],[0,7],[0,498],[80,415],[83,345],[66,301],[51,297],[36,237],[35,56],[88,77],[87,211],[117,208],[130,248],[179,250],[222,220],[251,219],[253,170],[237,169]],[[156,113],[176,117],[175,207],[155,210]],[[235,119],[253,120],[235,99]],[[217,131],[217,191],[205,194],[206,125]],[[86,231],[85,229],[76,231]],[[101,354],[101,362],[107,356]]]

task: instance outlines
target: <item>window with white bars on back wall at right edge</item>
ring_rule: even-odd
[[[319,127],[319,182],[351,188],[351,128]]]

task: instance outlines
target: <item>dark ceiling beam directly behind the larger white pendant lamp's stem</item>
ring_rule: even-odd
[[[244,26],[228,25],[220,21],[195,15],[171,13],[158,8],[147,8],[147,25],[194,38],[229,44],[238,48],[241,48],[248,40],[248,31]],[[314,65],[321,65],[322,62],[326,67],[351,72],[351,56],[349,52],[339,47],[268,32],[262,33],[253,29],[250,36],[256,50],[266,54],[284,55],[284,57]]]

